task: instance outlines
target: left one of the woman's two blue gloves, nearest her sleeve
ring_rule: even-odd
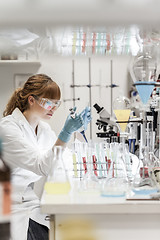
[[[76,107],[73,110],[76,111]],[[72,133],[80,129],[83,126],[83,124],[84,120],[82,117],[82,113],[78,115],[75,113],[75,118],[72,118],[71,115],[69,114],[58,138],[63,142],[68,142],[71,138]]]

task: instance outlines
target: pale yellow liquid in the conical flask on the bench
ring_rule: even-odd
[[[44,189],[46,190],[47,194],[68,194],[71,186],[69,182],[46,182]]]

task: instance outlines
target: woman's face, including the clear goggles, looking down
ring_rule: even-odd
[[[48,98],[35,98],[30,96],[29,99],[30,110],[34,115],[41,119],[50,119],[57,108],[60,106],[61,101]]]

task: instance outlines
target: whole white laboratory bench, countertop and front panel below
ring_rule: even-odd
[[[43,192],[50,240],[150,240],[160,237],[160,201],[102,197],[96,193]]]

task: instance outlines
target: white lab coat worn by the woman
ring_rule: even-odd
[[[17,218],[12,225],[12,239],[26,240],[29,218],[48,225],[45,216],[40,214],[39,199],[51,168],[52,147],[57,138],[49,124],[42,121],[36,135],[18,108],[2,118],[0,132],[3,134],[3,158],[12,169],[12,216]]]

